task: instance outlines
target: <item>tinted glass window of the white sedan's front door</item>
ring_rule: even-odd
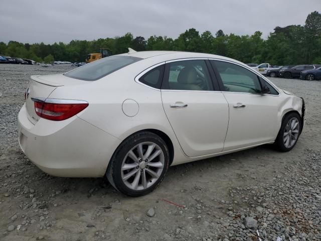
[[[221,76],[225,91],[260,93],[261,85],[256,74],[236,64],[213,61]],[[211,63],[213,64],[211,61]]]

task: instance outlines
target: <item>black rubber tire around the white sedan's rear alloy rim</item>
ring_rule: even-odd
[[[151,186],[143,190],[133,190],[128,188],[128,186],[126,186],[126,184],[124,183],[122,179],[121,167],[127,153],[136,145],[144,142],[152,142],[158,145],[159,148],[161,148],[161,150],[164,153],[164,168],[161,175],[159,175],[158,179]],[[167,170],[169,169],[169,165],[170,165],[170,152],[164,140],[151,132],[147,132],[147,131],[139,132],[128,137],[119,145],[119,147],[117,148],[117,150],[115,151],[114,155],[112,156],[109,162],[105,175],[108,181],[110,182],[110,184],[117,191],[128,196],[137,197],[137,196],[145,195],[151,192],[152,190],[154,190],[163,181],[164,176]],[[141,181],[141,179],[139,179],[139,181]]]

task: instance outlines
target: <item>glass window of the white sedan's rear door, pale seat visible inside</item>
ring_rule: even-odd
[[[213,90],[205,60],[184,60],[169,63],[163,89]]]

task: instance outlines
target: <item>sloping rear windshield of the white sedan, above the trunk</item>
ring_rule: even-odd
[[[131,56],[110,56],[85,64],[64,75],[74,79],[94,81],[139,60],[141,58]]]

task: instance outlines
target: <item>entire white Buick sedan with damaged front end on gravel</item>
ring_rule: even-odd
[[[130,196],[169,166],[273,144],[291,150],[304,101],[222,56],[150,51],[31,76],[19,143],[44,172],[102,177]]]

